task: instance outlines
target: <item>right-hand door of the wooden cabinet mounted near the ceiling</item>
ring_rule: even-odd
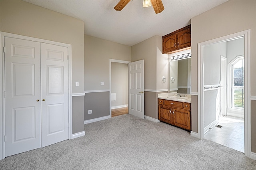
[[[178,49],[191,46],[191,28],[177,33],[177,47]]]

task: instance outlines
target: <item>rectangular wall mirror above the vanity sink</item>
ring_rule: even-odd
[[[169,91],[190,94],[191,58],[169,61]]]

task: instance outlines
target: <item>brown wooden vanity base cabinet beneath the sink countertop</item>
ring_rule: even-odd
[[[185,130],[191,130],[191,104],[158,99],[158,119]]]

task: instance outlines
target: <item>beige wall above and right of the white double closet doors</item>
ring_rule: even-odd
[[[84,22],[24,1],[1,0],[0,4],[2,32],[72,45],[72,92],[84,92]],[[80,82],[79,87],[75,87],[75,81]],[[73,132],[84,129],[81,108],[73,112]]]

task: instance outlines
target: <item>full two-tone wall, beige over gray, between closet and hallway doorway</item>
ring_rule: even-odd
[[[110,90],[109,59],[131,61],[131,47],[84,35],[84,90]],[[100,85],[104,82],[104,86]],[[110,115],[109,92],[86,93],[84,120]],[[92,114],[88,114],[92,110]]]

